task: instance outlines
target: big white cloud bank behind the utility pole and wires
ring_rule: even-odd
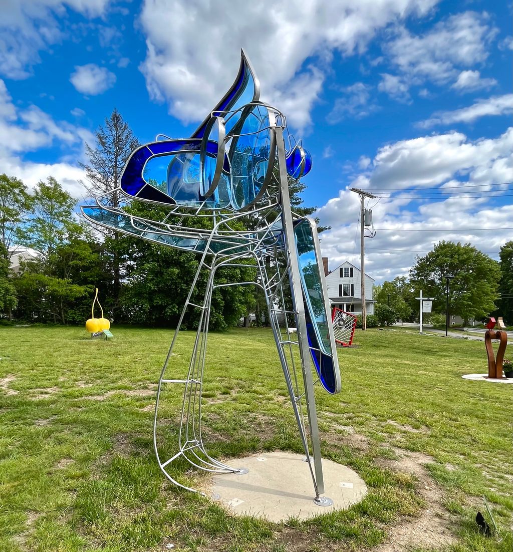
[[[498,206],[490,203],[495,192],[490,183],[511,181],[513,174],[513,127],[495,139],[469,140],[463,134],[422,136],[379,148],[372,162],[371,174],[360,174],[351,187],[369,192],[384,188],[437,187],[443,192],[466,192],[467,184],[485,184],[469,188],[483,192],[485,197],[467,198],[466,193],[448,194],[441,198],[409,199],[404,197],[369,200],[373,206],[376,238],[366,240],[366,272],[376,278],[391,280],[407,275],[415,254],[430,251],[444,239],[470,242],[481,251],[499,251],[501,245],[513,239],[513,231],[483,232],[480,229],[511,226],[513,204]],[[458,181],[461,179],[461,181]],[[459,187],[454,188],[454,187]],[[357,220],[359,197],[349,186],[340,190],[316,213],[321,224],[332,229],[321,235],[322,254],[330,258],[335,268],[345,260],[359,264]],[[500,187],[503,189],[504,187]],[[420,190],[421,191],[421,190]],[[422,229],[422,232],[410,231]],[[446,229],[443,232],[438,229]],[[452,229],[452,230],[451,230]],[[478,229],[477,231],[459,229]],[[356,238],[356,242],[355,242]],[[408,251],[389,251],[408,250]],[[497,256],[495,255],[495,258]]]

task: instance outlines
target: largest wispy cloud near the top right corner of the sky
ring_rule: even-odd
[[[422,35],[400,28],[383,50],[403,82],[418,86],[431,81],[443,86],[462,70],[484,63],[497,32],[485,12],[464,12],[438,22]]]

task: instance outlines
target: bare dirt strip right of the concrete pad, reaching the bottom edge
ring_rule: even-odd
[[[378,460],[377,463],[393,471],[413,475],[418,480],[416,491],[424,498],[425,508],[419,517],[405,519],[388,529],[387,541],[376,552],[400,552],[410,548],[440,548],[456,543],[451,532],[451,518],[443,507],[444,492],[431,479],[425,464],[434,460],[421,453],[406,452],[393,448],[397,460]]]

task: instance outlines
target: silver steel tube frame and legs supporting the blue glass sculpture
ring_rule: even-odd
[[[311,346],[307,335],[304,291],[302,291],[301,286],[300,267],[294,236],[294,222],[299,221],[302,217],[295,215],[290,209],[283,139],[284,117],[276,110],[272,113],[273,116],[269,119],[271,121],[270,131],[272,132],[271,150],[274,159],[274,148],[276,147],[276,167],[278,171],[274,171],[273,178],[275,180],[273,185],[269,185],[267,197],[256,198],[253,202],[255,204],[252,206],[250,213],[257,222],[256,230],[239,231],[232,229],[231,223],[240,217],[248,216],[247,210],[244,212],[231,209],[209,210],[205,213],[201,206],[191,210],[190,208],[183,209],[180,206],[169,205],[169,213],[162,221],[152,221],[130,215],[123,208],[113,208],[105,205],[106,202],[102,201],[102,198],[97,201],[95,209],[98,210],[98,213],[114,217],[113,220],[117,220],[115,217],[119,216],[126,217],[129,225],[115,227],[120,232],[137,235],[160,245],[166,245],[166,238],[183,238],[186,241],[180,242],[182,245],[177,243],[167,243],[167,245],[187,251],[197,251],[202,255],[158,380],[153,439],[158,465],[163,474],[174,485],[189,491],[196,491],[184,482],[179,481],[179,477],[171,474],[171,466],[177,460],[186,460],[194,468],[209,473],[238,473],[241,475],[246,473],[247,470],[244,467],[231,466],[223,460],[213,458],[208,453],[202,432],[202,394],[205,360],[207,359],[210,305],[214,290],[228,285],[258,285],[265,292],[269,320],[277,345],[285,385],[298,424],[300,439],[313,482],[313,500],[319,506],[329,506],[332,504],[330,498],[321,496],[324,493],[324,479],[314,396],[314,378],[311,367]],[[277,124],[277,120],[279,124]],[[222,134],[221,132],[220,135]],[[224,152],[224,147],[221,150]],[[269,174],[271,172],[268,171]],[[210,188],[208,193],[211,194],[213,191]],[[87,210],[87,206],[83,207],[84,210],[84,216],[90,221],[109,227],[110,222],[107,218],[93,217]],[[271,218],[269,222],[268,219],[272,214],[274,214],[274,218]],[[168,222],[171,216],[174,216],[175,220]],[[179,216],[178,221],[176,216]],[[213,229],[202,230],[187,226],[187,221],[192,216],[210,217],[214,221]],[[316,233],[314,237],[316,253],[320,259]],[[248,259],[255,263],[257,277],[254,281],[229,284],[216,283],[216,272],[219,268],[241,266],[242,264],[247,266]],[[194,290],[197,289],[202,271],[208,273],[208,283],[204,290],[203,302],[194,304],[192,296]],[[321,283],[325,301],[328,301],[324,273],[322,273]],[[288,287],[292,293],[292,311],[287,310],[285,304]],[[188,309],[199,309],[199,325],[187,373],[180,378],[180,375],[177,374],[177,367],[173,365],[173,349],[179,337],[179,328]],[[326,309],[329,312],[329,304],[326,304]],[[292,332],[289,328],[287,316],[294,318],[297,333]],[[332,350],[336,354],[335,339],[330,323],[328,323],[328,327]],[[294,360],[295,351],[299,351],[301,376],[298,374],[297,363]],[[161,433],[161,424],[159,424],[162,393],[167,386],[174,385],[184,386],[181,415],[178,423],[178,444],[175,449],[176,452],[164,456],[160,441],[161,439],[167,441],[167,433]],[[337,389],[340,389],[340,376]]]

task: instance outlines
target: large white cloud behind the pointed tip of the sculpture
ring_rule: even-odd
[[[140,18],[147,38],[141,71],[152,99],[168,102],[170,113],[182,121],[201,120],[233,81],[242,46],[266,97],[284,110],[292,95],[298,111],[288,113],[295,118],[291,122],[308,124],[334,50],[362,52],[379,29],[411,14],[422,16],[437,1],[218,0],[200,8],[186,0],[146,0]],[[317,72],[304,70],[309,58],[316,59]],[[293,86],[298,77],[306,99]]]

